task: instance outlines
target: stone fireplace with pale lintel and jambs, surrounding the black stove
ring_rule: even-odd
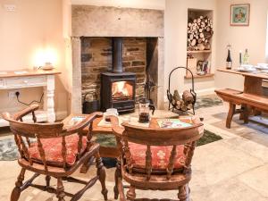
[[[113,75],[119,81],[111,85],[111,101],[130,97],[138,101],[147,95],[145,85],[150,81],[155,84],[151,98],[158,108],[163,107],[163,11],[72,5],[71,113],[81,112],[87,93],[102,98],[101,77],[112,71],[112,41],[118,37],[122,38],[122,70],[136,79],[133,86],[130,80]]]

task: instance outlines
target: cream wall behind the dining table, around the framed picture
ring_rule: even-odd
[[[233,68],[239,65],[239,50],[248,48],[250,63],[265,62],[266,34],[267,34],[267,0],[247,0],[250,4],[250,21],[248,27],[230,26],[230,4],[241,4],[240,0],[217,0],[217,68],[225,67],[227,56],[226,46],[232,46]],[[266,61],[268,62],[268,61]],[[229,73],[216,72],[216,88],[243,88],[243,77]]]

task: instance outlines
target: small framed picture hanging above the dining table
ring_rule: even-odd
[[[230,5],[230,26],[248,26],[250,4]]]

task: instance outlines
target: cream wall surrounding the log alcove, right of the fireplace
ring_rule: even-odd
[[[216,0],[166,0],[165,4],[165,86],[168,88],[168,75],[177,66],[186,66],[187,63],[187,26],[188,8],[214,10],[214,24],[216,21]],[[214,71],[216,34],[213,41],[212,71]],[[172,79],[172,90],[179,89],[182,92],[189,88],[190,80],[184,80],[185,71],[181,70],[174,74]],[[199,94],[214,91],[214,79],[196,80],[196,88]]]

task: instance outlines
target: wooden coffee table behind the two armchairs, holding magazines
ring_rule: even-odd
[[[63,120],[64,125],[68,125],[68,122],[71,121],[71,118],[74,116],[87,116],[87,114],[70,114],[66,119]],[[138,117],[138,112],[136,113],[128,113],[122,114],[119,117]],[[158,126],[156,119],[164,119],[164,118],[179,118],[179,114],[172,113],[171,111],[165,110],[155,110],[155,114],[152,115],[152,120],[150,121],[150,127]],[[102,121],[103,117],[96,118],[92,124],[92,134],[102,134],[102,135],[113,135],[112,127],[104,127],[99,126],[99,122]],[[88,127],[84,130],[85,135],[88,133]],[[119,156],[119,150],[117,147],[100,147],[99,149],[100,155],[102,157],[110,157],[110,158],[117,158]]]

